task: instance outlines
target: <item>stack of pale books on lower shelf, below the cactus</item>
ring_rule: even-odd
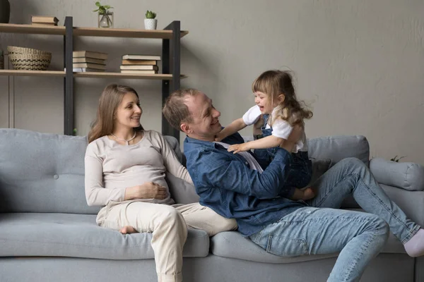
[[[124,55],[122,56],[121,73],[151,75],[158,73],[160,56]]]

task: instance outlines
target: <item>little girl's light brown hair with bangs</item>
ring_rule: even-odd
[[[266,71],[259,75],[252,83],[253,92],[266,94],[273,104],[273,99],[284,94],[284,101],[278,105],[278,114],[274,118],[281,118],[291,126],[303,125],[305,118],[312,118],[312,111],[307,109],[305,102],[298,101],[293,86],[293,77],[288,71]],[[269,116],[269,125],[272,125],[272,115]]]

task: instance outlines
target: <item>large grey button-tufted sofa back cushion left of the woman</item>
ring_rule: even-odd
[[[0,129],[0,212],[97,214],[84,194],[86,137]]]

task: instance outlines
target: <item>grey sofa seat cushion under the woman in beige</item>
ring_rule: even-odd
[[[151,233],[122,235],[90,214],[0,214],[1,257],[153,259]],[[184,257],[206,257],[206,231],[189,229]]]

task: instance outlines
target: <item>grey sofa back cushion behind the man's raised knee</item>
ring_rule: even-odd
[[[334,165],[341,159],[355,157],[369,165],[370,145],[364,136],[317,137],[309,139],[307,144],[311,159],[331,159]]]

